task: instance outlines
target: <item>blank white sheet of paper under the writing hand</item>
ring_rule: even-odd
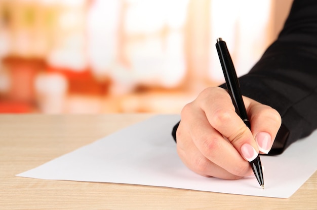
[[[288,198],[317,168],[317,131],[282,155],[261,156],[265,189],[255,177],[205,178],[185,167],[171,136],[178,115],[157,115],[65,154],[19,177],[162,186]]]

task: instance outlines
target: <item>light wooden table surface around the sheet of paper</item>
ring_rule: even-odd
[[[0,209],[317,209],[317,172],[287,199],[15,176],[151,116],[0,115]]]

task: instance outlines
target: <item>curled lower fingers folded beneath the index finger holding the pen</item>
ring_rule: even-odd
[[[177,150],[185,165],[203,176],[221,179],[240,179],[252,174],[249,163],[209,124],[205,113],[194,106],[195,103],[185,106],[176,133],[177,139],[182,139],[177,142]],[[189,120],[187,126],[182,124]]]

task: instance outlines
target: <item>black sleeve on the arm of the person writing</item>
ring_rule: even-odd
[[[269,154],[317,128],[317,1],[295,0],[278,39],[240,79],[242,94],[276,109],[282,126]],[[225,87],[225,85],[221,85]],[[177,125],[173,128],[176,141]]]

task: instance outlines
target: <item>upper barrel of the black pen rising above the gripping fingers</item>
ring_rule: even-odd
[[[244,120],[245,124],[250,128],[250,122],[248,120],[247,111],[243,102],[239,80],[237,79],[227,45],[224,41],[220,40],[216,43],[216,49],[226,81],[227,90],[232,99],[235,112],[241,117],[242,120]]]

